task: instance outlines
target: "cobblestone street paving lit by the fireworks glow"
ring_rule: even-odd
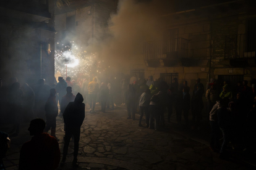
[[[247,169],[239,161],[225,161],[218,153],[211,152],[202,142],[197,142],[172,130],[166,123],[164,131],[139,127],[139,115],[127,120],[126,107],[116,107],[101,113],[86,110],[79,142],[79,163],[77,169]],[[7,127],[6,127],[7,128]],[[22,131],[11,138],[11,148],[4,158],[7,169],[17,169],[22,144],[31,139],[28,124],[22,124]],[[2,131],[8,132],[6,129]],[[59,147],[64,146],[64,123],[58,116],[56,136]],[[70,142],[69,157],[64,168],[72,169],[74,142]],[[236,163],[235,163],[236,162]]]

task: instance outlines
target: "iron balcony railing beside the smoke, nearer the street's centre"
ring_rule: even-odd
[[[188,57],[189,40],[184,38],[144,43],[144,59],[178,59]]]

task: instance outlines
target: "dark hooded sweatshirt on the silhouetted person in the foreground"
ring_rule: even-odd
[[[69,102],[67,105],[63,119],[68,129],[80,129],[82,126],[83,119],[85,119],[85,103],[80,93],[77,94],[74,102]]]

